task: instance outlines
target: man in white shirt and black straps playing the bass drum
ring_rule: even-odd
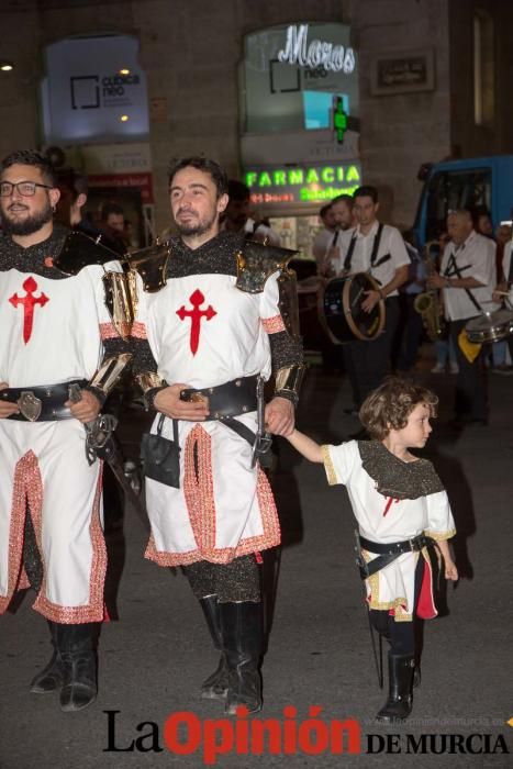
[[[381,224],[378,191],[375,187],[358,187],[354,193],[353,213],[358,225],[342,238],[342,258],[337,274],[370,272],[379,289],[367,291],[361,303],[364,312],[371,312],[384,301],[386,319],[382,334],[372,342],[348,342],[344,345],[344,360],[353,388],[355,406],[377,388],[387,374],[392,342],[399,323],[399,287],[408,280],[410,257],[399,230]]]

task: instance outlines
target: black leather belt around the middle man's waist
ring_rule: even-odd
[[[226,417],[238,416],[257,409],[256,386],[258,377],[241,377],[218,387],[201,390],[182,390],[180,400],[194,401],[204,398],[209,402],[210,414],[207,420],[223,422]]]

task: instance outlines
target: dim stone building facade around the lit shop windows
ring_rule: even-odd
[[[75,96],[70,97],[67,87],[63,89],[67,107],[89,120],[93,97],[87,90],[92,81],[87,78],[97,77],[100,91],[110,93],[118,120],[126,118],[125,133],[120,122],[111,133],[103,126],[103,133],[92,136],[86,132],[74,138],[73,131],[68,136],[58,135],[66,163],[81,165],[98,187],[109,191],[138,189],[146,215],[153,218],[155,231],[161,231],[169,224],[166,171],[171,158],[205,154],[231,176],[243,178],[247,170],[241,80],[247,36],[309,23],[321,30],[327,29],[323,24],[347,30],[358,78],[358,135],[353,149],[363,181],[380,190],[388,221],[402,227],[412,224],[422,163],[510,149],[513,108],[501,96],[508,92],[513,56],[508,40],[513,15],[510,3],[303,0],[301,15],[298,8],[293,0],[2,3],[0,59],[12,63],[13,69],[0,71],[0,153],[56,144],[47,108],[52,99],[55,102],[56,87],[46,86],[45,97],[42,83],[51,68],[48,52],[66,41],[75,52],[80,48],[80,74],[71,71],[71,65],[66,70],[66,77],[76,78]],[[142,110],[146,109],[146,123],[143,120],[135,132],[130,114],[135,108],[126,96],[135,88],[129,82],[131,75],[103,82],[104,76],[97,71],[96,41],[109,47],[114,37],[134,41],[138,85],[144,79],[146,89]],[[124,93],[120,96],[116,89]],[[344,104],[343,99],[339,103]],[[352,118],[349,108],[349,122]],[[65,123],[54,120],[59,130]],[[335,160],[328,157],[324,166],[331,168]],[[288,163],[293,167],[290,158]],[[325,172],[327,179],[330,174]],[[304,203],[294,210],[294,216],[312,216],[322,201],[311,198]],[[279,201],[269,213],[281,215]]]

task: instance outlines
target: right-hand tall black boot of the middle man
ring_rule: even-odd
[[[224,653],[228,666],[228,691],[224,712],[235,715],[239,705],[249,713],[261,709],[260,656],[261,603],[220,603]]]

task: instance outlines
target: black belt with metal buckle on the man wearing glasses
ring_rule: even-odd
[[[46,387],[9,387],[0,390],[1,400],[18,403],[20,406],[19,414],[12,414],[7,419],[20,422],[54,422],[71,419],[71,412],[64,405],[69,400],[70,384],[85,387],[87,380],[74,379]]]

